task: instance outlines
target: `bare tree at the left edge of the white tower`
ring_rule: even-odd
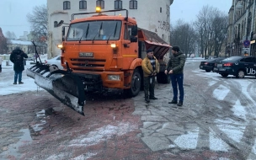
[[[46,45],[48,22],[46,5],[33,8],[33,12],[27,14],[27,19],[31,25],[33,39],[42,45]]]

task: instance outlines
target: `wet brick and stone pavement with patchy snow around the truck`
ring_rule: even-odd
[[[42,90],[0,96],[0,159],[256,159],[255,77],[199,64],[185,65],[182,108],[168,104],[170,84],[150,104],[90,94],[85,116]]]

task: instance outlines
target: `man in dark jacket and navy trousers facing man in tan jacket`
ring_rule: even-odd
[[[172,87],[173,87],[173,100],[168,104],[177,104],[178,106],[182,106],[184,102],[183,70],[184,70],[186,57],[179,50],[179,46],[173,46],[172,53],[173,53],[173,56],[170,57],[170,60],[168,61],[168,65],[164,71],[165,74],[170,74]],[[179,104],[178,104],[178,88],[177,87],[179,87]]]

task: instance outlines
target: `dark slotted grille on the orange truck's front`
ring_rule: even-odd
[[[70,59],[75,70],[104,70],[106,60],[103,59],[86,59],[72,58]]]

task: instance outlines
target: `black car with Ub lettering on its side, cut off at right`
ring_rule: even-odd
[[[253,56],[231,56],[216,63],[214,72],[222,77],[233,75],[236,77],[256,76],[256,57]]]

